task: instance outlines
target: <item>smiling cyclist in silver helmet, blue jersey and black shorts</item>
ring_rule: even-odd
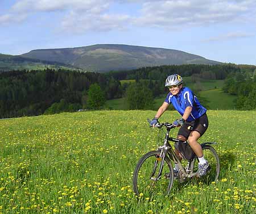
[[[179,132],[177,133],[177,139],[183,141],[188,140],[193,152],[195,152],[199,159],[197,174],[199,176],[203,176],[208,171],[209,163],[205,160],[203,150],[197,140],[208,128],[207,110],[200,104],[199,100],[188,87],[182,86],[182,78],[180,75],[169,75],[166,79],[165,86],[168,87],[170,93],[167,95],[162,106],[160,106],[159,110],[156,112],[156,115],[154,119],[151,120],[150,125],[154,127],[156,123],[159,123],[158,119],[160,116],[167,110],[168,106],[172,104],[181,115],[181,119],[177,119],[173,123],[177,127],[180,127]],[[189,126],[193,127],[193,130],[188,129]],[[175,153],[177,154],[177,157],[180,157],[179,151],[176,148]],[[175,163],[175,177],[177,177],[178,171],[179,165]]]

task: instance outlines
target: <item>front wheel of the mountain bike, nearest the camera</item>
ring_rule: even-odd
[[[160,170],[163,162],[162,172]],[[174,169],[170,159],[160,157],[160,151],[145,154],[137,163],[133,174],[133,190],[138,196],[168,195],[174,182]]]

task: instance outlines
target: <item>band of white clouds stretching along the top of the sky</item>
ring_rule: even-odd
[[[135,14],[127,4],[138,7]],[[122,12],[111,10],[113,5]],[[111,12],[110,12],[111,11]],[[17,22],[40,12],[63,14],[61,26],[67,31],[110,31],[123,26],[183,28],[227,22],[255,22],[255,0],[19,0],[2,22]],[[18,15],[17,15],[18,14]],[[20,16],[23,19],[11,17]]]

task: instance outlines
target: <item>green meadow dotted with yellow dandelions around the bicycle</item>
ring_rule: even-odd
[[[256,111],[208,111],[217,183],[175,181],[136,198],[132,177],[157,147],[154,111],[87,111],[0,120],[1,213],[255,213]],[[178,117],[167,111],[162,121]],[[177,129],[174,130],[175,136]]]

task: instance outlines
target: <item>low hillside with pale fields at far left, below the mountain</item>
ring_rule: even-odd
[[[7,72],[9,70],[42,70],[46,68],[65,68],[76,69],[73,66],[66,65],[61,62],[46,61],[24,56],[12,56],[0,53],[0,71]]]

